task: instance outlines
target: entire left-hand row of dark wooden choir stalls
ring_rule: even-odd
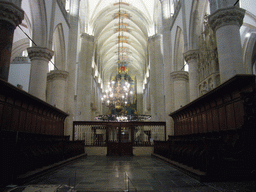
[[[67,116],[0,79],[0,186],[28,171],[84,153],[84,142],[71,142],[64,136]]]

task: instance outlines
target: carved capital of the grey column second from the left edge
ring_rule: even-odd
[[[54,51],[46,47],[29,47],[27,50],[31,60],[37,59],[49,62],[54,54]]]

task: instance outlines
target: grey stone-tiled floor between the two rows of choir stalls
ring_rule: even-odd
[[[128,176],[127,176],[128,175]],[[129,186],[128,186],[129,185]],[[34,179],[12,192],[255,191],[254,181],[200,183],[154,157],[87,156]]]

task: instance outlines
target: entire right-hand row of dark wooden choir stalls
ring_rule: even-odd
[[[174,136],[158,143],[155,153],[215,178],[253,177],[254,75],[237,75],[170,116],[174,120]]]

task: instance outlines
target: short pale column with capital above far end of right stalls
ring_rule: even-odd
[[[174,108],[177,110],[188,103],[188,72],[174,71],[171,78],[174,86]]]

